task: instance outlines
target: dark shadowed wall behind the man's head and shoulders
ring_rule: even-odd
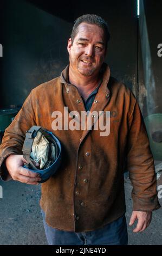
[[[22,105],[32,88],[59,76],[68,64],[67,41],[74,20],[82,14],[94,13],[108,22],[111,31],[106,58],[111,74],[133,90],[145,116],[147,108],[154,107],[153,113],[161,112],[162,58],[157,56],[157,45],[162,40],[162,3],[151,0],[140,3],[138,27],[136,0],[90,0],[86,4],[82,1],[1,1],[0,107]],[[147,60],[151,63],[151,80],[144,74]],[[153,80],[155,92],[152,84],[148,84]],[[146,102],[150,93],[154,98],[150,104],[155,102],[153,106],[147,106]]]

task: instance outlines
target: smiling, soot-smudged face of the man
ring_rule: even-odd
[[[99,73],[106,54],[103,29],[92,24],[81,23],[73,44],[68,41],[70,68],[84,76]]]

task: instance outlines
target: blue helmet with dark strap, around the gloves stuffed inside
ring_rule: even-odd
[[[42,135],[47,139],[49,144],[52,144],[55,148],[55,159],[52,161],[48,161],[43,168],[37,168],[33,163],[33,159],[31,158],[32,147],[34,143],[34,139],[37,136],[37,133],[41,132]],[[32,126],[30,130],[26,132],[24,144],[23,144],[23,157],[27,160],[27,164],[24,164],[24,168],[27,168],[31,172],[39,173],[41,177],[41,183],[47,181],[50,176],[54,175],[59,169],[61,164],[61,143],[59,139],[53,135],[52,132],[49,132],[41,126]]]

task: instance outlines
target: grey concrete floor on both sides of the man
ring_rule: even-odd
[[[41,186],[21,182],[0,181],[3,198],[0,198],[0,245],[47,245],[39,200]],[[125,179],[125,194],[129,218],[132,211],[132,186]],[[144,232],[134,234],[128,227],[129,245],[162,245],[162,209],[153,212],[152,222]]]

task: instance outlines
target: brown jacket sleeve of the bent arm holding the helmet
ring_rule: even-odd
[[[0,175],[3,180],[9,180],[5,159],[9,155],[22,154],[25,132],[33,125],[36,125],[36,122],[30,93],[21,110],[4,132],[2,144],[0,145]]]

